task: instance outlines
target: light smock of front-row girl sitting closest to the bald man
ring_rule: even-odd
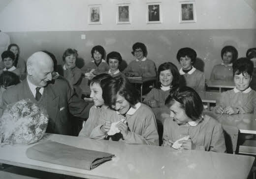
[[[105,105],[101,107],[92,106],[90,108],[89,118],[79,132],[78,137],[90,137],[93,129],[97,126],[102,126],[105,123],[104,120],[109,120],[112,115],[116,115],[116,111],[109,109]]]

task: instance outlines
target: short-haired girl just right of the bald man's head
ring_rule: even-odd
[[[82,89],[79,85],[84,77],[84,73],[76,66],[77,56],[78,53],[75,49],[65,50],[62,57],[65,64],[62,69],[59,69],[59,74],[67,79],[71,88],[81,98]]]

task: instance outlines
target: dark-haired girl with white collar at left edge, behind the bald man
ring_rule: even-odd
[[[0,70],[0,74],[3,71],[9,71],[15,73],[17,76],[20,77],[20,69],[16,68],[13,63],[15,60],[15,55],[12,51],[3,51],[1,54],[4,69]]]

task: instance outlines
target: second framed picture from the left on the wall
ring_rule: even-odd
[[[131,13],[130,13],[130,4],[117,4],[117,24],[130,24]]]

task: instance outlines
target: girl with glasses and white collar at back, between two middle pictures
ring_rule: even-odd
[[[154,61],[147,58],[147,48],[145,44],[137,42],[132,46],[132,55],[136,58],[131,61],[124,70],[128,77],[156,77],[156,65]]]

